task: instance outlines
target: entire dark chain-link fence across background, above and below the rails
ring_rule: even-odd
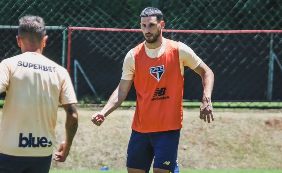
[[[282,2],[274,0],[2,0],[0,25],[16,26],[20,17],[32,14],[43,17],[46,26],[139,29],[140,12],[147,6],[158,7],[163,12],[165,29],[282,28]],[[16,30],[0,29],[0,32],[0,58],[19,54]],[[62,33],[63,30],[48,30],[50,37],[44,50],[47,57],[59,64],[66,63]],[[213,100],[282,99],[282,72],[278,63],[282,63],[280,33],[274,33],[273,39],[270,33],[164,33],[164,36],[189,45],[214,71]],[[118,84],[125,54],[142,39],[139,32],[73,30],[70,74],[74,80],[76,59],[78,98],[107,99]],[[271,69],[273,77],[269,75],[270,49],[276,55]],[[201,100],[201,78],[190,69],[185,70],[184,78],[184,99]],[[272,87],[271,99],[269,87]],[[127,99],[135,99],[133,89]]]

